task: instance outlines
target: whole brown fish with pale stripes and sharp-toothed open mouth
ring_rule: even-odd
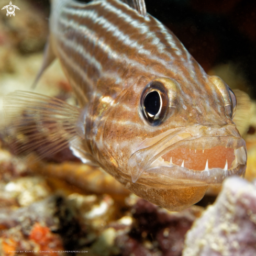
[[[169,210],[244,175],[235,94],[205,73],[143,0],[52,0],[39,76],[55,57],[79,107],[36,93],[8,95],[18,153],[44,157],[70,147],[83,163]]]

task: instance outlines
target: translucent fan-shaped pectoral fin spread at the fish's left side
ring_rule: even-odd
[[[4,98],[4,109],[10,147],[21,156],[36,152],[43,158],[83,140],[77,132],[80,108],[60,99],[16,91]]]

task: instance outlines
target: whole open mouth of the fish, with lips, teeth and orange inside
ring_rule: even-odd
[[[226,176],[244,174],[246,146],[235,129],[209,128],[203,134],[198,130],[198,126],[172,130],[160,135],[162,138],[144,141],[129,160],[132,181],[153,174],[154,179],[165,176],[182,184],[220,184]],[[147,154],[151,154],[148,159]]]

